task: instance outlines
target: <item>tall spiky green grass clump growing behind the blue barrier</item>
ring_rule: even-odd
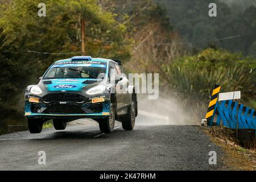
[[[215,84],[221,85],[221,92],[234,90],[250,90],[251,78],[245,75],[245,68],[237,64],[217,69],[189,68],[183,65],[164,65],[168,78],[166,84],[171,94],[182,101],[185,109],[193,118],[204,117],[210,100],[210,94]]]

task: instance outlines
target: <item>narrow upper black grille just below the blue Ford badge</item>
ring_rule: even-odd
[[[80,94],[55,93],[43,97],[45,102],[84,102],[86,98]]]

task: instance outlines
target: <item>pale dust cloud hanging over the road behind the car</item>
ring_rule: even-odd
[[[200,125],[192,119],[176,98],[160,97],[148,100],[146,94],[138,94],[137,125]]]

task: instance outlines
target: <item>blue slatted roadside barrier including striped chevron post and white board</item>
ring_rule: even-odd
[[[226,126],[230,129],[256,130],[256,111],[239,104],[241,92],[220,93],[221,86],[215,85],[202,125]],[[234,100],[237,100],[234,102]],[[217,115],[217,117],[216,117]]]

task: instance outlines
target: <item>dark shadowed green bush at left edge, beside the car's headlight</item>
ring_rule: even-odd
[[[32,64],[19,51],[14,42],[8,41],[6,34],[0,29],[0,125],[6,125],[7,119],[23,119],[23,98],[22,90],[31,78],[35,69]],[[4,127],[2,127],[4,128]]]

